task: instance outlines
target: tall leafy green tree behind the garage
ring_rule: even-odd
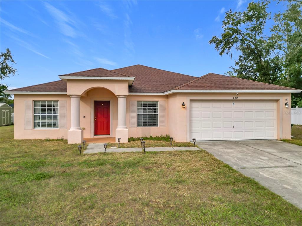
[[[302,2],[288,2],[287,10],[267,12],[269,2],[250,2],[243,12],[227,11],[221,37],[209,41],[220,55],[239,52],[231,76],[302,89]],[[292,96],[292,106],[302,107],[301,94]]]

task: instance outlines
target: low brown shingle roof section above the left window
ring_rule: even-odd
[[[66,81],[52,81],[38,85],[31,85],[23,88],[12,89],[9,91],[18,92],[67,92]]]

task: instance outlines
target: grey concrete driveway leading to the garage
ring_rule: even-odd
[[[196,143],[302,209],[301,146],[275,140]]]

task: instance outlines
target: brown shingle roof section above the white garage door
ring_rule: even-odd
[[[243,78],[230,77],[209,73],[180,85],[175,90],[294,90],[284,86],[278,86]]]

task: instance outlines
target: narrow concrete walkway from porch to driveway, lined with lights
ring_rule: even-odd
[[[197,147],[158,147],[158,148],[145,148],[146,151],[198,151]],[[106,152],[142,152],[143,148],[107,148]],[[93,154],[104,152],[104,144],[88,144],[84,154]]]

